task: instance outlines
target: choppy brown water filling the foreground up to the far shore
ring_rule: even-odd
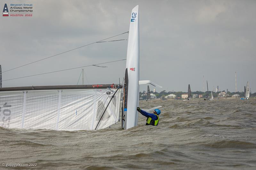
[[[15,169],[256,169],[256,100],[150,100],[158,126],[97,131],[0,127],[0,164]],[[0,169],[5,167],[0,165]]]

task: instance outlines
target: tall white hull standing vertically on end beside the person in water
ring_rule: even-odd
[[[139,77],[140,77],[140,41],[139,41],[139,5],[131,12],[127,46],[127,60],[124,86],[123,128],[129,129],[138,124]]]

